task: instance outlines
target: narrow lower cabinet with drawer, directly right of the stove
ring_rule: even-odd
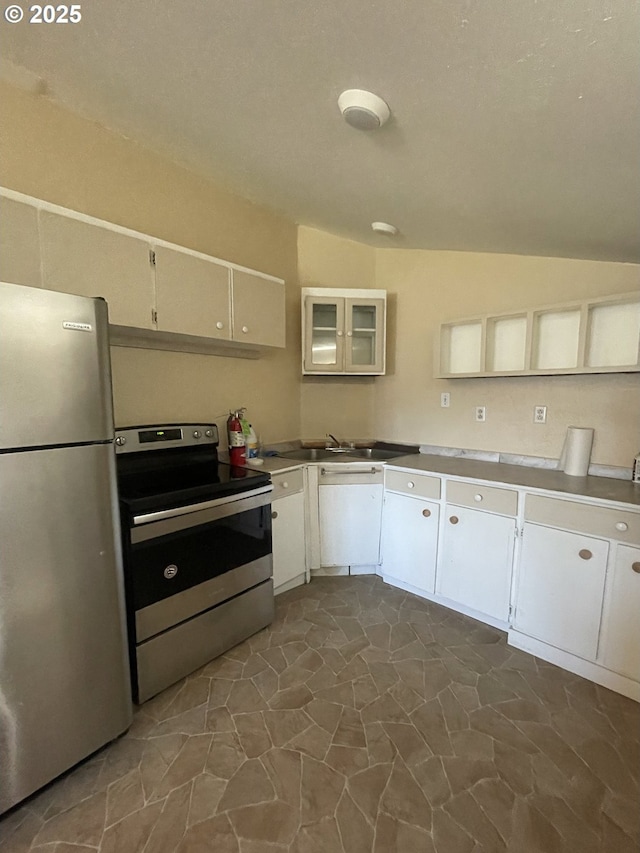
[[[271,479],[273,588],[277,594],[306,580],[302,469],[274,474]]]

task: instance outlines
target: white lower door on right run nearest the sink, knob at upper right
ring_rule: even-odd
[[[382,572],[389,583],[433,594],[438,552],[437,503],[387,492],[382,522]]]

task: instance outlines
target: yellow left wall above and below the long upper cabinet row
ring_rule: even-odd
[[[287,348],[260,360],[114,347],[116,423],[222,425],[247,406],[265,441],[298,437],[295,224],[45,98],[0,84],[0,103],[3,186],[286,281]]]

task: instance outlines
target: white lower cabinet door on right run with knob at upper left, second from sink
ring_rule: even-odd
[[[507,622],[515,533],[514,518],[447,504],[438,595]]]

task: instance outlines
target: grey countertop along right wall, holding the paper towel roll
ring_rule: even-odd
[[[426,453],[399,456],[388,460],[386,466],[640,506],[640,484],[612,477],[571,477],[545,468]]]

